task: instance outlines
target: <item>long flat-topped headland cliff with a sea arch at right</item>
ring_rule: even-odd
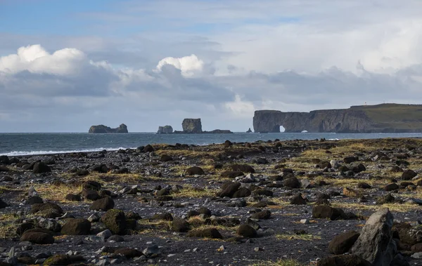
[[[311,112],[255,111],[255,132],[416,133],[422,132],[422,105],[359,105]]]

